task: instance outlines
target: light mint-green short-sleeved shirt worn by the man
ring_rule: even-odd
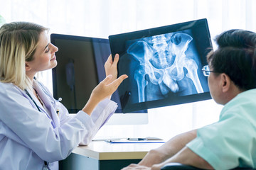
[[[217,123],[197,130],[186,145],[214,169],[256,167],[256,89],[225,104]]]

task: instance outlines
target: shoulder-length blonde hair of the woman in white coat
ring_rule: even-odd
[[[48,28],[36,23],[13,22],[0,28],[0,81],[30,89],[25,62],[33,60],[39,35]]]

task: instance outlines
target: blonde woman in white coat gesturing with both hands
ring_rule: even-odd
[[[117,108],[110,96],[127,78],[117,79],[118,55],[114,62],[109,57],[107,77],[71,117],[34,79],[36,73],[56,67],[57,51],[48,28],[27,22],[0,28],[0,169],[58,169],[58,160],[87,145]]]

